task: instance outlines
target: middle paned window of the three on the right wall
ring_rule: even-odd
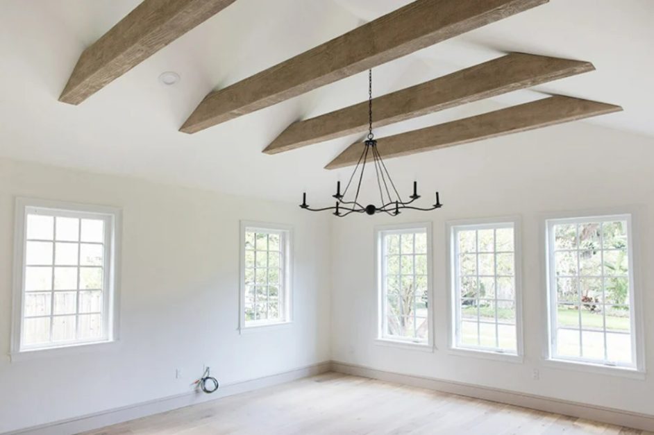
[[[453,348],[520,353],[516,225],[450,225]]]

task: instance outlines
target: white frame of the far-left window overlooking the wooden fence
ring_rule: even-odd
[[[103,337],[89,341],[49,343],[44,346],[22,346],[24,312],[24,271],[26,255],[26,221],[28,214],[70,216],[102,219],[105,222]],[[18,361],[49,355],[67,355],[80,350],[97,350],[97,346],[116,343],[119,339],[119,264],[120,264],[121,210],[103,205],[87,205],[35,198],[16,198],[14,232],[14,270],[12,297],[12,332],[10,359]],[[51,307],[53,309],[53,307]]]

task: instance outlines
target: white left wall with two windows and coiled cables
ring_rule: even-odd
[[[118,346],[9,361],[15,196],[122,209]],[[237,331],[240,219],[294,226],[290,327]],[[203,364],[228,384],[327,361],[327,228],[289,204],[0,160],[0,432],[191,391]]]

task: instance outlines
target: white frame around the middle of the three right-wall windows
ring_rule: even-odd
[[[513,226],[514,244],[514,285],[515,285],[515,309],[516,309],[516,352],[505,352],[503,350],[485,349],[458,346],[457,336],[459,333],[459,309],[458,295],[459,285],[456,268],[458,268],[459,253],[455,239],[457,230],[486,230],[505,228]],[[485,359],[498,359],[510,362],[523,362],[523,302],[522,302],[522,223],[519,216],[506,216],[500,218],[460,219],[446,223],[447,236],[447,273],[448,273],[448,348],[453,355],[480,357]]]

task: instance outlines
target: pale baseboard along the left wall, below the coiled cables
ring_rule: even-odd
[[[84,432],[92,429],[98,429],[108,425],[115,425],[135,418],[151,416],[156,413],[170,411],[187,407],[192,404],[201,402],[208,402],[210,400],[217,400],[224,398],[228,395],[235,395],[244,393],[246,391],[253,391],[256,389],[265,388],[267,386],[274,386],[283,384],[284,382],[294,381],[303,377],[319,375],[330,370],[330,362],[326,361],[319,364],[312,364],[289,370],[276,375],[269,375],[260,377],[258,379],[248,379],[242,382],[233,382],[232,384],[224,384],[220,389],[212,394],[205,393],[183,393],[179,395],[169,396],[167,398],[160,398],[156,400],[149,400],[133,404],[128,407],[121,407],[110,409],[108,411],[101,411],[97,413],[88,414],[77,418],[69,418],[67,420],[60,420],[55,423],[47,423],[45,425],[38,425],[33,427],[26,427],[13,432],[6,432],[9,434],[30,434],[30,435],[69,435],[78,432]]]

